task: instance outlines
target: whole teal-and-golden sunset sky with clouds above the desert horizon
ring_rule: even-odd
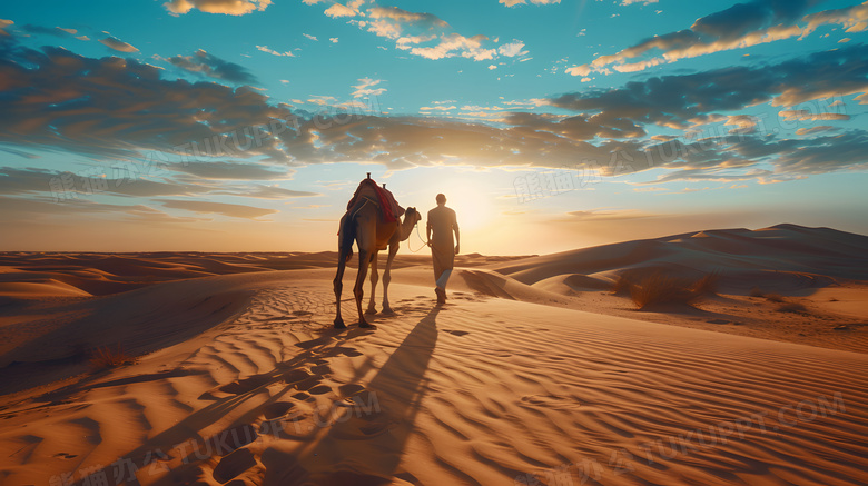
[[[366,172],[445,194],[463,252],[868,234],[867,28],[832,0],[3,2],[0,251],[336,250]]]

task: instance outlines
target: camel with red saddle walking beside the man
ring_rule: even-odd
[[[369,178],[369,176],[368,176]],[[363,285],[367,275],[368,265],[371,271],[371,301],[367,306],[367,314],[376,314],[376,286],[377,275],[377,255],[379,250],[388,246],[388,259],[386,260],[386,270],[383,274],[383,313],[393,314],[388,305],[388,282],[392,280],[392,260],[398,250],[401,241],[410,237],[413,227],[422,220],[416,208],[407,208],[403,221],[401,218],[393,222],[384,222],[379,215],[377,205],[367,198],[361,198],[351,208],[343,218],[341,218],[341,231],[337,238],[337,275],[334,280],[335,307],[337,316],[335,317],[335,328],[345,329],[346,325],[341,317],[341,291],[344,288],[344,269],[346,264],[353,257],[353,240],[358,246],[358,275],[356,285],[353,287],[353,295],[356,298],[356,308],[358,309],[358,326],[373,327],[365,319],[362,313],[362,297],[364,295]]]

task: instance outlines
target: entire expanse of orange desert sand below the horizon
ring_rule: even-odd
[[[868,484],[868,237],[460,256],[445,306],[403,249],[373,330],[352,270],[332,329],[334,266],[0,255],[0,483]],[[644,310],[612,291],[652,271],[718,281]]]

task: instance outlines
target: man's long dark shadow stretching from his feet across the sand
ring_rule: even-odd
[[[391,483],[425,394],[425,373],[437,343],[438,313],[435,307],[416,324],[366,391],[356,396],[361,403],[346,403],[346,415],[292,453],[265,450],[264,484]]]

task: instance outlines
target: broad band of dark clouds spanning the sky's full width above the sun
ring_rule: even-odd
[[[684,129],[698,123],[732,121],[732,127],[749,126],[749,118],[736,117],[746,107],[761,103],[787,107],[776,112],[795,112],[806,109],[800,102],[822,100],[813,102],[817,108],[807,115],[793,116],[820,113],[815,118],[827,119],[821,115],[842,113],[845,107],[826,98],[855,95],[857,100],[865,99],[868,91],[868,47],[865,46],[816,52],[761,68],[724,68],[630,81],[613,89],[522,101],[524,105],[504,100],[500,107],[462,107],[462,111],[493,113],[492,123],[479,119],[468,122],[453,118],[362,115],[357,110],[317,116],[294,113],[292,107],[247,87],[233,89],[218,82],[165,80],[160,78],[160,69],[135,59],[90,59],[59,48],[36,51],[14,42],[0,42],[0,59],[4,60],[0,63],[0,79],[7,83],[0,98],[0,142],[95,158],[140,160],[148,151],[176,156],[181,150],[179,147],[196,142],[200,151],[211,153],[215,160],[227,162],[227,159],[256,157],[270,166],[359,161],[382,163],[392,170],[462,163],[593,166],[606,176],[664,168],[670,175],[684,170],[683,175],[677,175],[682,178],[747,180],[768,178],[771,173],[775,180],[785,180],[785,176],[792,175],[859,170],[868,153],[868,137],[860,130],[811,133],[819,137],[797,139],[752,137],[748,132],[703,139],[685,136],[683,140],[649,139],[647,135],[651,131],[648,125]],[[362,78],[354,88],[383,89],[375,81],[378,80]],[[329,106],[337,99],[312,96],[309,101]],[[555,116],[512,111],[519,106],[519,109],[530,109],[546,103],[573,112]],[[456,105],[444,102],[443,107]],[[276,120],[293,122],[288,128],[283,125],[278,126],[282,129],[274,125],[268,128]],[[254,133],[249,131],[251,126],[266,128]],[[207,147],[224,147],[231,153],[210,152]],[[842,155],[837,160],[836,147],[841,147]],[[776,171],[767,170],[769,167]],[[267,170],[279,171],[275,167]],[[226,187],[225,182],[201,177],[255,172],[250,166],[230,169],[220,165],[194,165],[188,171],[199,171],[199,175],[176,176],[175,180],[137,180],[118,186],[112,194],[165,197],[223,190],[238,197],[288,196],[278,189]],[[37,176],[39,190],[48,190],[46,176]],[[13,179],[27,177],[16,173]],[[117,176],[110,180],[115,179]],[[2,184],[12,187],[9,180]]]

